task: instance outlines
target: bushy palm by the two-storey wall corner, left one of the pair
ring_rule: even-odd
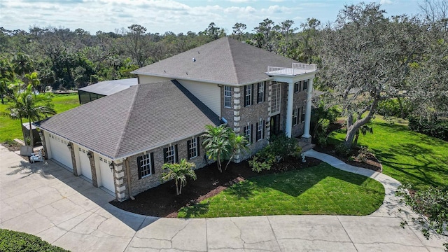
[[[207,131],[202,135],[204,137],[204,143],[202,145],[205,148],[206,155],[209,160],[216,160],[218,164],[219,172],[223,172],[221,160],[225,156],[228,156],[232,146],[230,143],[230,129],[225,125],[214,127],[212,125],[206,125]]]

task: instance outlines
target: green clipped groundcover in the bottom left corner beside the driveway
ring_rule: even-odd
[[[52,251],[66,252],[64,248],[52,246],[47,241],[24,232],[0,229],[0,251]]]

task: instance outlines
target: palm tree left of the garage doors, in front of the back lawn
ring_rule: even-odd
[[[33,96],[31,84],[28,85],[24,92],[15,94],[12,99],[13,104],[6,108],[8,113],[3,114],[12,119],[20,119],[20,127],[22,127],[22,118],[28,119],[30,145],[34,146],[31,122],[41,120],[42,116],[54,115],[56,113],[55,109],[53,109],[50,104],[51,99],[45,97],[43,94]],[[25,139],[25,137],[24,140],[26,143],[27,139]]]

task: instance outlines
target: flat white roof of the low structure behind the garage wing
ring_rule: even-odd
[[[138,78],[106,80],[93,85],[88,85],[87,87],[79,88],[78,90],[94,94],[111,95],[137,84],[139,84]]]

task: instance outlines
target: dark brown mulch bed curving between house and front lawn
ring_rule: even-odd
[[[215,163],[195,170],[197,179],[195,181],[188,180],[187,186],[182,189],[181,195],[176,195],[174,181],[168,181],[140,193],[134,197],[135,200],[126,200],[124,202],[113,200],[111,204],[135,214],[176,218],[181,207],[196,204],[213,197],[234,183],[244,181],[253,176],[314,167],[320,163],[321,160],[314,158],[307,158],[307,162],[304,163],[300,159],[290,158],[274,165],[270,171],[260,173],[252,172],[247,161],[239,164],[230,163],[228,169],[223,171],[223,173],[218,171]]]

